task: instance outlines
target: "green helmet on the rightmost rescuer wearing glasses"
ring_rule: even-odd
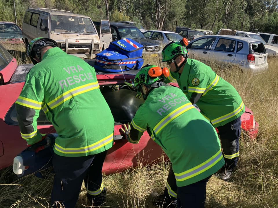
[[[186,50],[186,46],[183,45],[181,41],[178,42],[170,42],[167,44],[162,50],[162,61],[167,62],[173,60],[178,55],[187,55],[188,51]]]

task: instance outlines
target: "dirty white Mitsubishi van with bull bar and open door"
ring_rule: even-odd
[[[90,17],[70,11],[28,8],[22,23],[26,48],[37,37],[51,38],[66,53],[92,59],[112,41],[109,20],[101,21],[100,35]]]

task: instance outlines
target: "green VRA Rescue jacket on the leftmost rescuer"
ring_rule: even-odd
[[[41,140],[36,120],[42,109],[59,135],[56,154],[94,155],[113,145],[114,118],[94,68],[58,47],[47,50],[26,75],[16,108],[21,136],[28,144]]]

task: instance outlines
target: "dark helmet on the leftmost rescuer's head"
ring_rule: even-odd
[[[50,38],[35,38],[33,39],[27,48],[27,55],[31,58],[33,64],[37,64],[38,62],[34,60],[34,58],[39,58],[41,60],[41,49],[45,46],[52,46],[57,47],[58,44],[55,40],[52,40]]]

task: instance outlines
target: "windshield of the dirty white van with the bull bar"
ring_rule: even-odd
[[[54,33],[97,34],[90,18],[78,16],[52,15],[50,30]]]

